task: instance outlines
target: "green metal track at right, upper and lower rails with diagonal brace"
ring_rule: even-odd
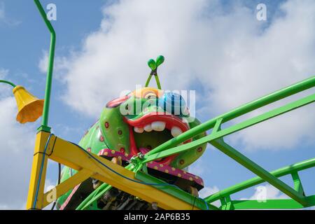
[[[258,164],[246,158],[245,155],[239,153],[235,148],[229,146],[223,140],[223,137],[228,136],[229,134],[239,132],[240,130],[244,130],[247,127],[251,127],[258,123],[262,123],[265,120],[269,120],[276,116],[280,116],[283,113],[287,113],[294,109],[298,109],[307,104],[311,104],[315,101],[315,94],[311,94],[302,99],[298,99],[295,102],[290,102],[284,106],[273,109],[266,113],[262,113],[260,116],[255,116],[254,118],[250,118],[236,125],[232,125],[231,127],[227,127],[224,130],[221,130],[221,125],[229,120],[242,116],[246,113],[249,113],[255,109],[259,109],[262,106],[266,106],[273,102],[279,101],[285,97],[289,97],[290,95],[296,94],[297,92],[302,92],[311,87],[315,86],[315,76],[303,80],[300,83],[296,83],[294,85],[290,85],[289,87],[283,88],[282,90],[276,91],[272,94],[269,94],[265,97],[257,99],[253,102],[245,104],[244,106],[240,106],[239,108],[225,113],[221,116],[218,116],[214,119],[208,120],[206,123],[198,125],[187,132],[179,135],[178,137],[171,139],[164,144],[158,146],[152,151],[148,152],[144,155],[144,158],[139,161],[139,167],[145,165],[147,162],[151,162],[153,160],[157,160],[160,158],[165,158],[169,155],[174,155],[176,153],[181,153],[183,151],[188,151],[190,148],[194,148],[196,146],[200,146],[204,143],[209,143],[214,147],[218,148],[218,150],[228,155],[230,158],[238,162],[240,165],[246,167],[246,169],[251,170],[258,177],[255,179],[251,179],[245,181],[244,183],[240,183],[237,186],[233,186],[228,188],[228,190],[222,190],[214,195],[206,197],[205,200],[209,203],[214,202],[216,200],[221,200],[221,209],[285,209],[285,208],[301,208],[301,207],[311,207],[315,205],[315,195],[305,196],[304,190],[302,188],[302,183],[300,181],[300,177],[298,175],[298,171],[302,169],[308,169],[310,167],[314,167],[314,159],[307,160],[302,162],[301,164],[292,165],[290,167],[285,167],[279,169],[275,172],[267,172],[267,170],[260,167]],[[183,141],[186,141],[202,132],[212,129],[211,134],[202,139],[198,139],[192,141],[188,144],[183,144],[181,146],[177,146],[181,144]],[[286,174],[291,174],[293,177],[294,188],[291,188],[286,183],[278,179],[278,176],[283,176]],[[246,188],[250,188],[251,186],[255,186],[262,182],[268,182],[275,188],[279,189],[282,193],[288,195],[290,199],[288,200],[267,200],[266,203],[259,203],[258,201],[232,201],[230,195],[232,193],[236,193],[240,190],[245,190]]]

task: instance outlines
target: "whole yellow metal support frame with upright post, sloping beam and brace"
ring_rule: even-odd
[[[97,160],[102,162],[104,165],[118,174],[127,177],[129,180],[125,179],[123,176],[115,174],[110,169],[107,169],[103,165],[99,164],[99,162],[93,160],[78,146],[69,143],[69,141],[59,139],[54,135],[50,137],[48,147],[44,154],[45,144],[48,141],[49,136],[50,134],[47,132],[38,132],[36,137],[34,160],[29,183],[29,195],[27,197],[27,209],[43,209],[52,202],[52,198],[54,198],[52,197],[52,193],[54,190],[55,197],[59,197],[68,190],[71,190],[74,186],[78,185],[78,183],[82,183],[89,177],[92,177],[94,179],[98,179],[99,181],[103,181],[104,183],[109,183],[114,188],[123,190],[130,195],[137,196],[146,202],[156,202],[158,207],[162,209],[199,210],[198,207],[192,208],[191,204],[158,190],[153,186],[134,182],[138,181],[134,177],[134,172],[131,172],[120,165],[116,165],[102,157],[93,155],[94,158],[97,158]],[[60,183],[44,195],[43,188],[45,185],[45,172],[48,158],[72,169],[76,169],[79,172],[70,179]],[[43,168],[41,170],[42,162]],[[40,176],[41,180],[39,181]],[[35,202],[36,195],[37,200]]]

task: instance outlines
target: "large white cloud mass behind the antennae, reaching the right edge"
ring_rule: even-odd
[[[315,2],[289,0],[283,16],[256,20],[252,8],[235,3],[224,13],[220,1],[119,1],[104,8],[99,30],[66,59],[69,70],[63,99],[87,116],[99,116],[106,102],[122,90],[144,84],[150,57],[165,55],[162,87],[190,89],[200,82],[205,109],[223,113],[257,97],[314,75]],[[263,29],[262,29],[263,28]],[[197,93],[198,94],[198,93]],[[242,132],[247,148],[293,148],[314,129],[311,108],[272,126]],[[297,119],[298,118],[298,122]],[[302,124],[302,125],[301,125]],[[285,134],[280,130],[287,128]],[[298,134],[297,134],[298,133]],[[285,139],[290,139],[281,144]]]

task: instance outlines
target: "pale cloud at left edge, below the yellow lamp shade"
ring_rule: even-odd
[[[1,78],[7,74],[8,71],[2,75],[0,72]],[[4,95],[7,90],[6,85],[0,85],[0,93]],[[36,128],[18,124],[14,97],[3,95],[0,94],[0,209],[25,209]]]

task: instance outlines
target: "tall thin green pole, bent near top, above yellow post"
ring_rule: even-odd
[[[50,21],[47,19],[45,10],[39,0],[34,0],[41,17],[43,18],[45,25],[50,31],[50,50],[49,50],[49,59],[48,59],[48,71],[46,79],[46,89],[45,89],[45,102],[43,106],[43,120],[41,127],[38,128],[38,131],[50,132],[50,127],[48,127],[48,116],[49,116],[49,106],[50,106],[50,94],[51,94],[51,84],[52,84],[52,71],[54,66],[54,57],[55,57],[55,44],[56,44],[56,34],[55,30],[52,27]]]

